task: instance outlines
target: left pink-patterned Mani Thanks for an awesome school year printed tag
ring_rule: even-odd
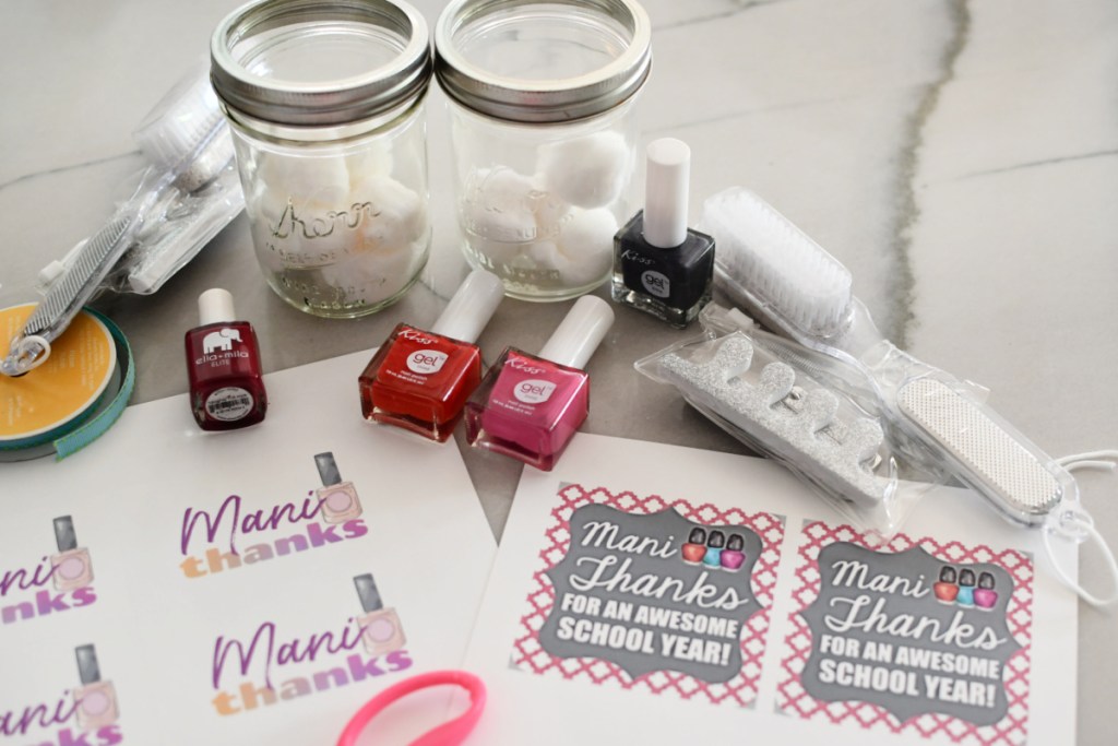
[[[580,484],[557,497],[513,664],[587,686],[751,705],[781,519]]]

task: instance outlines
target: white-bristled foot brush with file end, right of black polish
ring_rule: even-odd
[[[961,381],[885,340],[846,268],[757,195],[710,197],[700,227],[718,243],[717,282],[731,298],[774,331],[861,368],[891,418],[1005,516],[1038,525],[1077,497],[1067,470]]]

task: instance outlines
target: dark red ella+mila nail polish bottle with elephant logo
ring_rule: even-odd
[[[267,393],[256,332],[235,321],[233,295],[215,287],[198,296],[200,325],[187,332],[190,408],[202,429],[235,429],[264,419]]]

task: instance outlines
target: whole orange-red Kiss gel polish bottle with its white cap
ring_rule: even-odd
[[[358,378],[361,414],[439,443],[451,437],[482,380],[474,340],[504,296],[496,275],[475,270],[430,328],[399,324]]]

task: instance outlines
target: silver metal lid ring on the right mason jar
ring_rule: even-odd
[[[563,6],[624,31],[620,54],[579,75],[531,79],[486,69],[457,43],[464,29],[501,15]],[[567,122],[606,112],[639,91],[652,67],[651,41],[648,16],[634,0],[453,0],[435,25],[435,75],[447,95],[476,112],[514,122]]]

